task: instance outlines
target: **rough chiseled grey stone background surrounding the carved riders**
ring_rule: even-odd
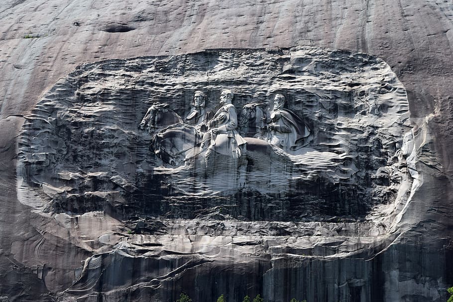
[[[289,108],[312,129],[305,147],[287,153],[249,141],[238,160],[201,154],[177,167],[152,154],[151,138],[166,121],[140,131],[149,104],[167,103],[185,116],[193,93],[203,90],[214,110],[226,88],[238,108],[285,93]],[[26,117],[20,200],[44,212],[110,207],[124,219],[365,217],[376,204],[405,202],[417,177],[408,113],[404,87],[389,66],[347,51],[213,50],[87,64]],[[31,199],[31,191],[39,197]]]

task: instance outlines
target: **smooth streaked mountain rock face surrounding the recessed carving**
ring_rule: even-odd
[[[360,301],[445,301],[445,289],[453,285],[449,152],[452,145],[451,15],[451,4],[437,0],[316,4],[311,1],[130,4],[3,1],[0,8],[0,278],[4,282],[0,283],[0,296],[7,296],[11,301],[52,301],[54,293],[70,289],[72,292],[67,297],[58,295],[57,299],[73,301],[78,286],[87,288],[87,283],[77,279],[81,261],[88,260],[85,261],[88,265],[94,261],[94,253],[102,253],[101,258],[106,259],[103,265],[110,275],[98,279],[94,290],[117,286],[116,290],[79,294],[87,295],[85,301],[175,301],[181,291],[197,301],[215,301],[220,294],[226,294],[228,301],[241,301],[245,294],[254,296],[258,292],[269,301],[289,301],[292,297],[309,301],[358,301],[357,297]],[[26,35],[40,37],[25,38]],[[366,221],[336,222],[330,226],[325,224],[329,221],[319,222],[319,226],[310,225],[316,221],[299,221],[292,228],[280,222],[240,221],[237,237],[234,232],[227,235],[231,236],[231,242],[238,244],[231,243],[228,248],[229,241],[223,238],[226,235],[222,235],[222,229],[232,228],[228,226],[232,219],[212,223],[205,220],[200,222],[200,227],[190,225],[182,233],[184,220],[157,222],[130,217],[125,221],[115,216],[117,220],[111,217],[115,211],[109,210],[86,214],[61,210],[59,214],[50,211],[43,215],[42,203],[31,203],[41,201],[33,191],[18,196],[31,206],[18,201],[16,138],[20,136],[23,116],[29,115],[42,96],[76,66],[96,60],[195,53],[208,48],[293,45],[377,55],[389,64],[407,91],[409,114],[419,119],[412,125],[418,148],[409,148],[414,152],[407,153],[416,155],[409,170],[418,172],[418,182],[412,182],[418,190],[413,191],[408,202],[396,205],[395,209],[385,204],[377,205],[381,209],[371,209],[382,216],[373,218],[374,227]],[[63,180],[74,181],[81,176],[64,172],[59,175]],[[126,188],[133,190],[130,185],[133,183],[122,176],[100,174],[98,177],[125,192]],[[40,190],[46,192],[45,196],[61,194],[59,184],[48,184]],[[392,213],[396,215],[394,220],[390,219]],[[393,223],[389,224],[389,219]],[[227,223],[226,227],[221,223]],[[341,223],[354,226],[347,228]],[[339,227],[348,229],[346,238],[363,240],[365,244],[360,246],[364,250],[354,252],[355,245],[349,244],[348,239],[337,243],[344,235]],[[128,234],[129,228],[142,234]],[[198,236],[196,239],[189,235],[193,232]],[[253,232],[262,234],[253,238]],[[174,237],[170,237],[172,234]],[[327,243],[330,234],[333,241]],[[159,246],[155,248],[156,253],[161,253],[157,258],[162,259],[160,270],[153,266],[158,261],[139,256],[142,247],[135,247],[139,243],[138,235],[161,236],[162,246],[169,247],[162,250],[170,252],[161,252]],[[240,236],[247,238],[243,240]],[[262,245],[260,236],[276,236],[275,244]],[[296,238],[298,245],[282,243],[291,237]],[[316,242],[301,244],[300,241],[318,237],[321,249],[311,255],[308,247],[318,247]],[[121,240],[126,241],[124,245],[113,248]],[[189,243],[190,240],[197,243]],[[144,243],[148,244],[146,250],[156,244],[154,239]],[[192,244],[195,248],[188,251],[186,248]],[[341,253],[350,247],[354,256],[346,258],[340,252],[329,256],[329,244],[340,246]],[[272,253],[266,252],[268,246],[273,247]],[[281,250],[277,250],[279,246]],[[222,252],[216,253],[217,248],[222,248]],[[179,253],[193,256],[184,258]],[[306,256],[293,256],[298,254]],[[215,261],[190,268],[183,266],[186,262],[196,263],[199,255],[207,258],[211,255]],[[268,255],[274,257],[269,259]],[[108,264],[113,258],[118,264],[132,263],[134,273],[130,278],[112,271]],[[169,268],[174,268],[173,275],[168,273]],[[140,283],[140,276],[148,276],[145,284]],[[74,286],[73,280],[78,280]],[[104,281],[111,283],[105,285]],[[135,287],[125,286],[132,281],[138,282]],[[154,289],[155,284],[160,287]]]

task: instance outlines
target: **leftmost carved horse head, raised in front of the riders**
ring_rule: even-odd
[[[139,127],[143,130],[147,126],[148,131],[152,132],[154,129],[182,122],[181,116],[170,108],[170,104],[157,103],[148,108]]]

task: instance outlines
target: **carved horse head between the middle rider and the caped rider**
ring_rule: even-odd
[[[266,131],[268,113],[262,109],[262,103],[249,103],[242,107],[239,127],[245,137],[263,138]]]

